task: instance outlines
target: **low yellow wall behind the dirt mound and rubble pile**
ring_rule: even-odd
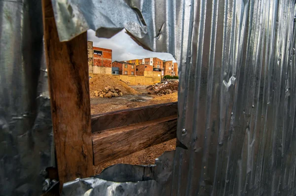
[[[136,76],[136,75],[113,75],[114,77],[129,82],[130,84],[150,85],[160,81],[160,77]]]

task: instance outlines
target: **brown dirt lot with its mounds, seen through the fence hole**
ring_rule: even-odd
[[[174,83],[174,85],[171,85],[171,83]],[[178,81],[164,81],[162,83],[156,83],[153,85],[129,85],[126,82],[120,81],[118,78],[111,75],[97,74],[89,80],[89,84],[90,107],[92,115],[139,107],[141,107],[143,110],[145,109],[145,106],[153,106],[157,104],[178,101]],[[106,91],[105,88],[114,89],[114,93],[116,93],[115,91],[117,89],[122,92],[122,96],[102,98],[97,92],[103,92],[103,90]],[[170,91],[170,93],[167,93],[168,91]],[[133,117],[127,116],[127,118]],[[103,162],[97,166],[94,166],[94,174],[97,175],[101,173],[101,171],[106,167],[118,163],[137,165],[154,164],[155,159],[162,155],[165,151],[175,150],[176,139],[168,138],[163,143],[146,147],[145,149],[143,148],[143,150],[140,148],[134,150],[135,153],[132,153],[126,157],[118,156],[120,157],[119,159]]]

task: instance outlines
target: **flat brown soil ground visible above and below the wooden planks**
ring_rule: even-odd
[[[162,96],[149,95],[147,86],[137,85],[131,86],[135,89],[138,94],[134,95],[124,95],[123,97],[117,98],[91,98],[91,114],[106,113],[116,110],[136,108],[146,105],[160,104],[173,102],[178,100],[178,93],[172,93]],[[117,163],[126,164],[154,164],[156,158],[158,158],[163,152],[175,150],[176,139],[151,146],[142,151],[131,154],[127,157],[123,157],[117,160],[113,160],[108,163],[101,164],[99,166],[94,166],[94,174],[99,174],[108,166]]]

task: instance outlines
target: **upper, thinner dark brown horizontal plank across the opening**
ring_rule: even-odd
[[[91,116],[93,133],[178,114],[178,102],[149,105]]]

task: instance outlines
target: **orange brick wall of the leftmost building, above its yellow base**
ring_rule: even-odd
[[[94,54],[94,66],[112,67],[112,50],[99,47],[93,47],[93,50],[102,51],[102,55]]]

